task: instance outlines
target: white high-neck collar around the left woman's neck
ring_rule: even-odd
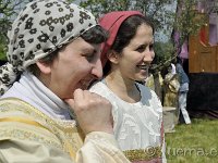
[[[53,118],[71,118],[69,105],[28,72],[24,72],[21,79],[14,83],[1,98],[8,97],[26,101]]]

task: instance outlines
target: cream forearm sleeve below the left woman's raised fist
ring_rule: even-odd
[[[80,163],[130,163],[118,149],[112,135],[93,131],[86,136],[85,145],[77,153]]]

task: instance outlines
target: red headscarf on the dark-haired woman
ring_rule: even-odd
[[[121,26],[121,24],[130,16],[132,15],[143,15],[138,11],[114,11],[110,12],[108,14],[105,14],[99,20],[99,24],[109,32],[109,38],[108,40],[102,43],[102,52],[101,52],[101,62],[102,66],[105,66],[107,62],[106,53],[113,45],[113,41],[116,39],[117,33]]]

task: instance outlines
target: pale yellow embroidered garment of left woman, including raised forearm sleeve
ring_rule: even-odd
[[[51,118],[16,98],[0,100],[0,162],[130,163],[113,135],[92,131],[83,139],[74,121]]]

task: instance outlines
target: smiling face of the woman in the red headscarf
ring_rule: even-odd
[[[144,80],[155,57],[153,28],[146,24],[138,26],[136,35],[119,54],[118,70],[123,78]]]

